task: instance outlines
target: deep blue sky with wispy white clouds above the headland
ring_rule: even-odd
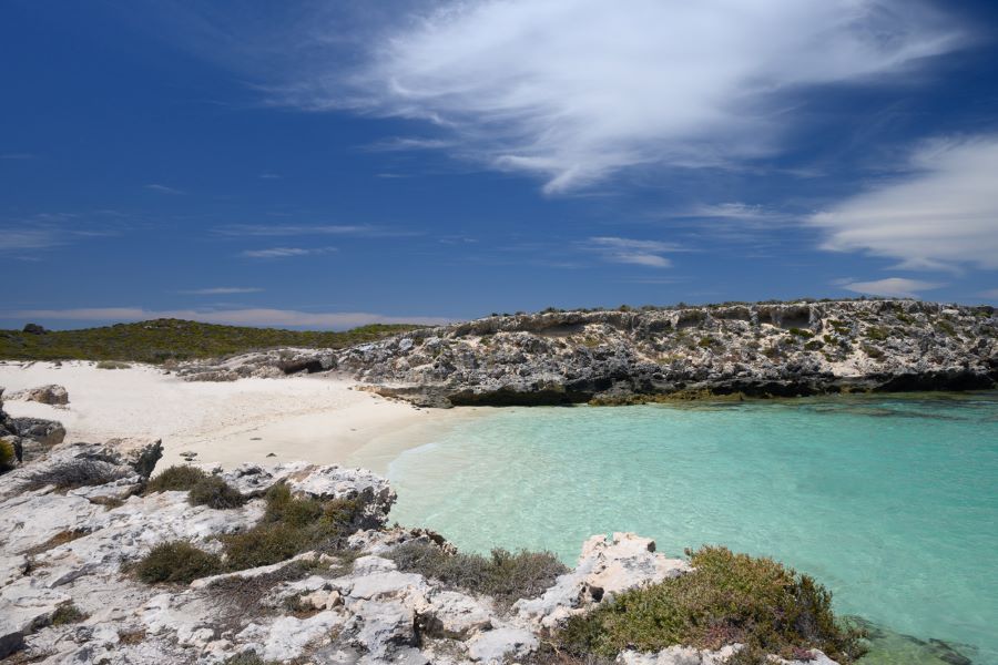
[[[998,304],[998,4],[0,2],[0,327]]]

